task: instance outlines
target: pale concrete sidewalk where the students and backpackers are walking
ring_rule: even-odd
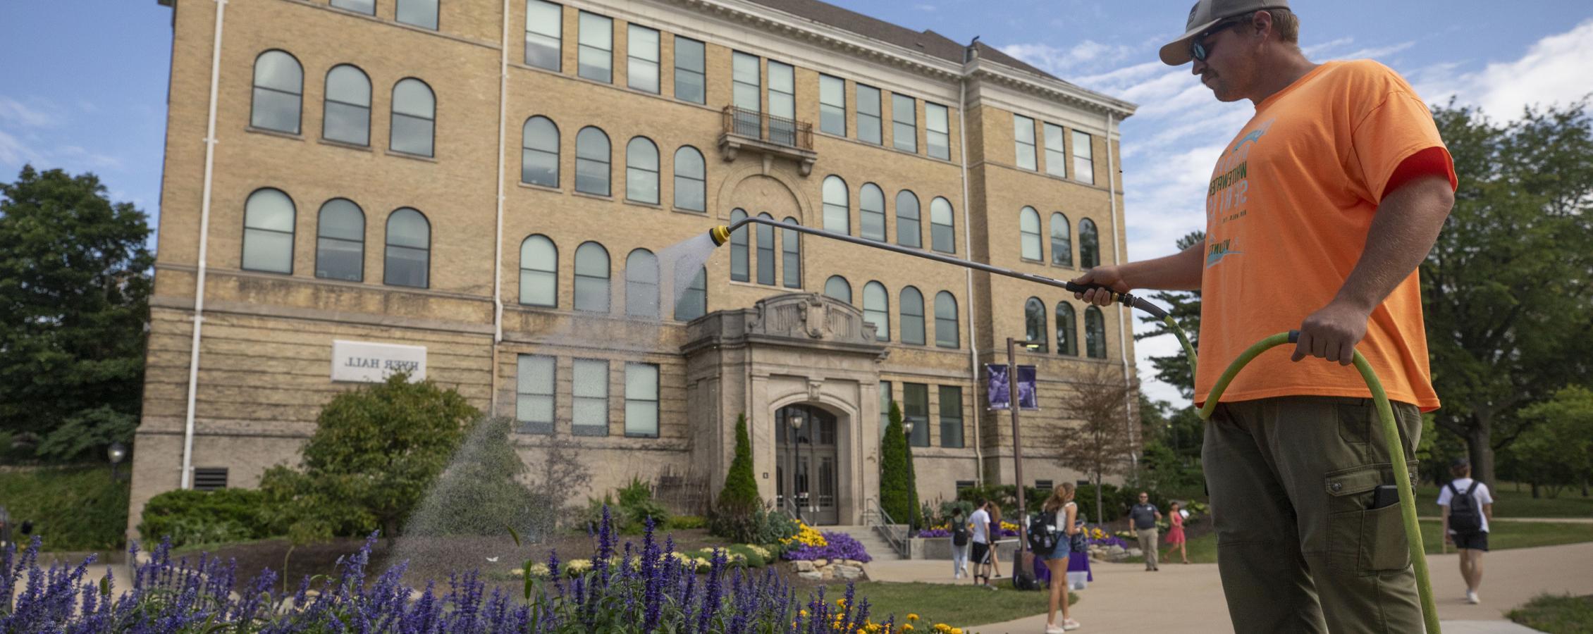
[[[1504,613],[1542,593],[1593,594],[1593,543],[1564,546],[1515,548],[1488,553],[1483,559],[1481,605],[1461,597],[1458,554],[1427,556],[1438,616],[1448,634],[1515,634],[1531,632],[1505,620]],[[1078,632],[1231,632],[1228,605],[1215,564],[1163,564],[1160,572],[1145,572],[1142,564],[1093,562],[1094,583],[1080,591],[1072,612],[1083,624]],[[1010,572],[1010,566],[1002,566]],[[951,583],[949,561],[881,561],[868,566],[868,578],[876,581]],[[967,578],[959,583],[969,583]],[[1010,581],[997,580],[999,593],[1015,593]],[[959,624],[980,634],[1045,631],[1045,615],[1032,615],[1004,623]]]

